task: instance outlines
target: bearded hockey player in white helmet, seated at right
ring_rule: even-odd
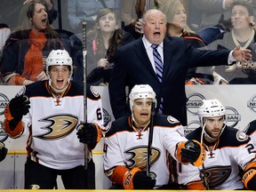
[[[202,100],[198,109],[201,127],[187,135],[188,140],[202,142],[206,151],[199,170],[179,165],[178,180],[201,172],[206,188],[216,190],[256,189],[256,149],[244,132],[226,124],[226,108],[220,100]],[[239,167],[242,169],[240,176]]]

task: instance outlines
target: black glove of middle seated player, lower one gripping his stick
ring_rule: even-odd
[[[132,179],[134,189],[153,189],[156,185],[156,180],[152,180],[147,176],[146,171],[136,172]]]

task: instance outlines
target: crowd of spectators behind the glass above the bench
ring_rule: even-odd
[[[44,12],[36,2],[43,3]],[[255,7],[255,0],[2,0],[1,84],[46,79],[44,59],[57,48],[69,52],[76,66],[73,80],[82,81],[83,21],[87,82],[108,84],[116,50],[143,36],[140,19],[148,9],[164,12],[166,36],[185,38],[195,48],[232,50],[240,45],[252,50],[246,63],[190,68],[185,84],[255,84]]]

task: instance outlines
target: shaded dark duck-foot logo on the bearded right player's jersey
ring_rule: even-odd
[[[206,168],[206,177],[209,183],[210,188],[215,188],[222,185],[226,180],[228,180],[229,175],[231,174],[231,166],[214,166]],[[202,175],[203,171],[201,170]]]

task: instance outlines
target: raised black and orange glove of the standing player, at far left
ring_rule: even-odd
[[[4,110],[4,131],[11,138],[18,138],[24,131],[24,125],[21,122],[23,116],[28,114],[30,101],[24,94],[13,98]]]

